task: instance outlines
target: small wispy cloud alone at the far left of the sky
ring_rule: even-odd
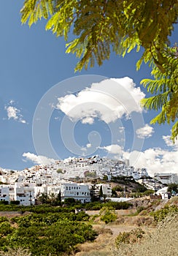
[[[20,113],[18,108],[13,106],[15,102],[13,100],[9,101],[9,105],[5,106],[5,110],[7,110],[7,118],[14,119],[15,121],[19,121],[22,124],[26,124],[26,120],[23,118],[23,115]]]

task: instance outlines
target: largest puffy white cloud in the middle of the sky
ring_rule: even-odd
[[[110,78],[93,83],[77,95],[67,94],[58,98],[56,108],[72,121],[93,124],[94,118],[99,118],[109,124],[133,111],[142,113],[139,102],[144,96],[131,78]]]

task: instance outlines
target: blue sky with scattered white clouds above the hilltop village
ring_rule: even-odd
[[[139,83],[150,78],[146,65],[136,72],[140,53],[124,59],[113,53],[101,67],[74,73],[77,59],[65,53],[63,38],[45,31],[44,21],[22,26],[22,6],[22,0],[0,2],[0,166],[22,170],[44,159],[99,154],[130,159],[151,174],[177,172],[171,127],[151,126],[155,112],[139,109],[148,95]]]

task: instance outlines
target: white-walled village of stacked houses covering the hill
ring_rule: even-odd
[[[19,201],[20,205],[35,205],[39,195],[61,193],[61,200],[72,197],[81,203],[91,200],[91,189],[112,197],[111,182],[115,177],[130,177],[147,189],[158,190],[163,184],[177,183],[177,174],[156,173],[149,177],[145,168],[136,169],[129,161],[100,158],[69,158],[50,165],[35,165],[25,170],[0,169],[0,201]],[[96,182],[97,181],[97,182]],[[93,185],[94,184],[94,185]]]

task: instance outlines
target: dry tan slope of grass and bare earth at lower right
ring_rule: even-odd
[[[95,222],[94,229],[100,233],[98,238],[90,244],[85,243],[79,246],[80,252],[76,256],[174,256],[177,255],[178,222],[177,212],[173,217],[167,217],[164,222],[157,223],[151,212],[156,212],[166,207],[178,207],[178,197],[171,200],[149,200],[148,198],[136,198],[132,200],[133,208],[130,210],[117,211],[117,219],[110,224]],[[135,205],[138,205],[137,209]],[[140,211],[140,212],[139,212]],[[164,210],[163,210],[164,211]],[[138,239],[133,237],[142,236]],[[131,243],[121,243],[116,246],[115,240],[122,233],[131,234]],[[170,236],[170,234],[174,234]],[[135,240],[134,240],[135,239]],[[150,246],[154,244],[154,246]]]

